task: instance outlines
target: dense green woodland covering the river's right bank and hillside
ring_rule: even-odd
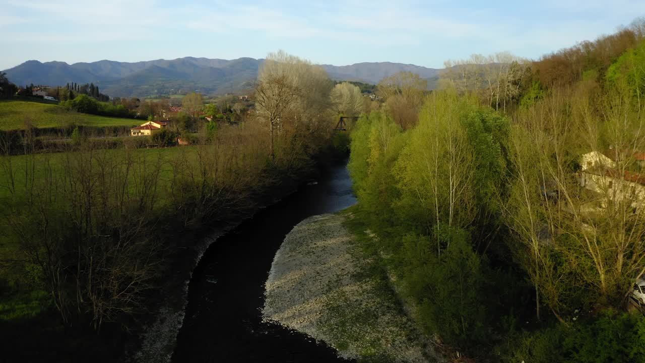
[[[645,361],[644,39],[637,20],[537,61],[446,61],[432,92],[379,83],[356,213],[455,360]]]

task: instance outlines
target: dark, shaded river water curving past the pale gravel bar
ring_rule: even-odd
[[[188,287],[173,362],[341,362],[312,338],[261,321],[264,282],[284,237],[309,216],[356,203],[346,163],[323,172],[222,236],[208,248]]]

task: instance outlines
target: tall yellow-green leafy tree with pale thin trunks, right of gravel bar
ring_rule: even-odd
[[[441,231],[466,228],[475,216],[475,155],[459,121],[465,107],[456,92],[429,96],[394,169],[402,205],[418,209],[410,213],[435,235],[438,256],[450,245],[439,243]]]

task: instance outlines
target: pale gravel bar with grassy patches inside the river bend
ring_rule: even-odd
[[[286,236],[266,282],[264,320],[323,340],[344,358],[436,361],[346,218],[313,216]]]

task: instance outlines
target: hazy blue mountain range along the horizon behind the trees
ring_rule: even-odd
[[[184,92],[223,94],[243,92],[253,86],[264,59],[208,59],[183,57],[157,59],[135,63],[96,61],[68,63],[26,61],[4,70],[7,78],[17,85],[63,86],[66,83],[94,83],[101,92],[112,97],[157,96]],[[417,65],[374,62],[346,66],[321,65],[331,78],[339,81],[361,81],[376,84],[381,79],[401,71],[410,71],[428,79],[433,88],[439,70]]]

